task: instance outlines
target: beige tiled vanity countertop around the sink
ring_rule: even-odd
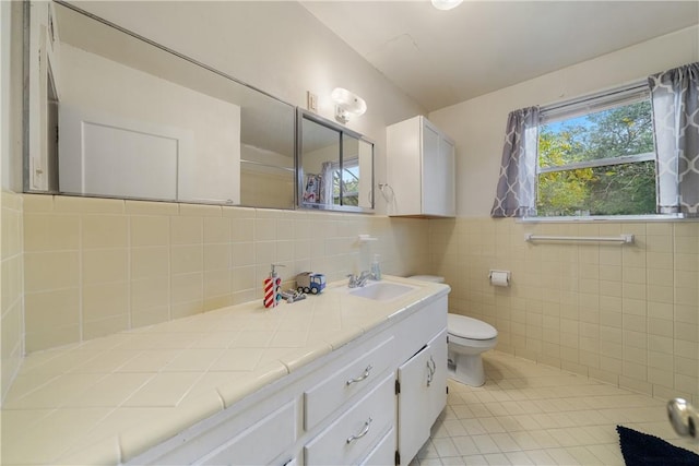
[[[447,285],[384,277],[414,291],[389,301],[346,283],[27,356],[2,406],[3,465],[119,464],[337,349]]]

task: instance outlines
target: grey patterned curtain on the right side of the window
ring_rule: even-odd
[[[648,79],[657,150],[659,213],[699,216],[699,62]]]

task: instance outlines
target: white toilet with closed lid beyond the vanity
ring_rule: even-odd
[[[445,283],[443,277],[435,275],[414,275],[410,278]],[[447,333],[449,334],[449,377],[466,385],[483,385],[485,371],[481,354],[495,347],[498,343],[498,331],[477,319],[450,312],[447,316]]]

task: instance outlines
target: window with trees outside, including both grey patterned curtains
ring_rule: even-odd
[[[699,218],[698,88],[699,62],[511,111],[490,215]]]

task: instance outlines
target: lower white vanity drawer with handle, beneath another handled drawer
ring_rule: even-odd
[[[304,447],[307,465],[357,464],[393,428],[395,374],[390,372]]]

